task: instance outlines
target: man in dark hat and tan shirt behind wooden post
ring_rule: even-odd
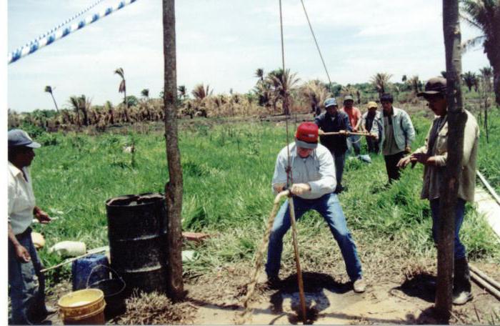
[[[410,162],[424,164],[424,186],[421,198],[429,199],[432,215],[432,235],[437,242],[437,227],[439,223],[439,187],[444,179],[444,169],[448,157],[448,142],[454,139],[448,138],[446,103],[446,79],[435,77],[429,79],[425,86],[425,92],[418,94],[429,102],[429,109],[436,114],[429,133],[427,134],[424,147],[417,149],[407,157],[401,159],[399,167],[406,167]],[[474,202],[474,187],[476,181],[476,158],[479,139],[479,127],[476,118],[466,111],[467,121],[464,129],[464,149],[461,162],[461,175],[459,178],[459,194],[455,209],[455,241],[454,241],[454,305],[464,305],[472,299],[469,264],[466,257],[466,249],[460,241],[459,231],[464,221],[466,202]]]

